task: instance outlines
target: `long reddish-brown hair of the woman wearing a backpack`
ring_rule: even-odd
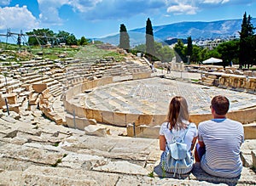
[[[184,123],[184,121],[189,121],[189,110],[186,99],[176,96],[171,100],[167,121],[170,124],[170,130],[172,128],[181,129],[187,126],[187,123]]]

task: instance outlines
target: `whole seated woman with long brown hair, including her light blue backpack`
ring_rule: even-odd
[[[195,123],[189,122],[186,99],[176,96],[171,100],[166,121],[160,127],[160,166],[166,172],[185,174],[192,170],[197,139]],[[181,150],[181,151],[180,151]]]

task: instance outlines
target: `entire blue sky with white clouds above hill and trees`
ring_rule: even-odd
[[[182,21],[256,18],[256,0],[0,0],[0,34],[49,28],[78,39]],[[1,39],[1,38],[0,38]]]

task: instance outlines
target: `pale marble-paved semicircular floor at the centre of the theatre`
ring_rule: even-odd
[[[96,87],[84,94],[81,105],[95,110],[165,115],[172,97],[183,96],[188,101],[190,114],[203,114],[210,113],[211,99],[218,94],[230,99],[230,110],[256,105],[253,94],[159,77]]]

